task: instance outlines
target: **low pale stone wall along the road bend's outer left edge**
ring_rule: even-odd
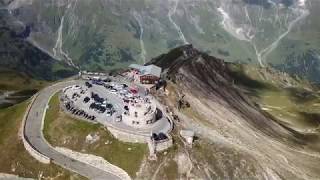
[[[27,137],[24,134],[25,124],[26,124],[27,117],[29,115],[30,108],[33,105],[37,96],[38,96],[38,94],[36,94],[32,97],[31,103],[27,107],[27,112],[24,114],[24,117],[22,120],[22,128],[20,130],[20,136],[22,138],[24,148],[29,152],[29,154],[32,157],[34,157],[39,162],[42,162],[44,164],[50,164],[50,158],[48,158],[47,156],[45,156],[45,155],[41,154],[40,152],[38,152],[37,150],[35,150],[34,147],[28,142]]]

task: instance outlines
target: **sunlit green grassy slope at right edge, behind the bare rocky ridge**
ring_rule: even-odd
[[[306,81],[289,76],[283,78],[284,74],[252,66],[237,66],[236,69],[235,83],[249,90],[248,94],[263,110],[293,129],[318,129],[320,94]],[[292,86],[284,86],[285,83]]]

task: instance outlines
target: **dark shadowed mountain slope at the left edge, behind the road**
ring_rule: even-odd
[[[28,42],[30,27],[10,26],[5,18],[5,15],[0,18],[0,70],[11,69],[43,80],[56,80],[76,73],[73,67],[58,62]]]

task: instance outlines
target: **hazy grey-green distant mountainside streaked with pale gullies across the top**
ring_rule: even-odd
[[[11,0],[11,24],[52,57],[86,70],[145,63],[193,44],[229,62],[319,82],[318,0]]]

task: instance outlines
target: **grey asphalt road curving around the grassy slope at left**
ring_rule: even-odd
[[[79,82],[80,81],[60,82],[39,92],[39,95],[36,97],[33,105],[31,106],[29,115],[26,119],[24,129],[26,139],[38,152],[51,158],[51,161],[53,163],[76,172],[89,179],[120,179],[117,175],[107,173],[91,165],[87,165],[61,154],[52,146],[50,146],[44,139],[44,136],[42,134],[42,118],[44,117],[45,108],[47,108],[50,97],[64,87],[74,85]]]

